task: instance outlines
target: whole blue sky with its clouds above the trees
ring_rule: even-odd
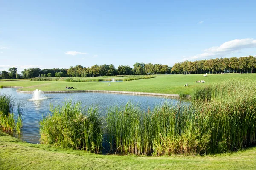
[[[256,55],[254,0],[0,0],[0,71]]]

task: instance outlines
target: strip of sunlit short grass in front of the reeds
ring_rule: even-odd
[[[96,155],[22,142],[0,131],[0,169],[222,169],[255,170],[256,147],[210,156],[138,157]]]

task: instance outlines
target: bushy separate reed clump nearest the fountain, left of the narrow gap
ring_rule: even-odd
[[[63,106],[51,106],[48,114],[39,122],[41,143],[54,144],[64,148],[101,153],[102,118],[98,108],[81,108],[81,103],[66,101]]]

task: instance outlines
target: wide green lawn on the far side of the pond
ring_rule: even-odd
[[[120,77],[122,79],[123,77]],[[65,90],[67,86],[77,88],[75,90],[112,90],[112,91],[137,91],[151,93],[168,93],[168,94],[189,94],[193,88],[201,85],[218,83],[227,79],[256,79],[256,74],[203,74],[190,75],[157,75],[156,78],[141,79],[127,82],[111,82],[108,86],[107,82],[62,82],[62,81],[0,81],[0,86],[23,86],[23,91],[33,91],[39,89],[42,91],[60,91]],[[75,78],[78,79],[78,78]],[[102,77],[79,78],[79,79],[111,79]],[[118,77],[115,77],[118,79]],[[193,83],[198,80],[204,80],[206,83]],[[185,84],[188,87],[184,87]],[[70,89],[68,90],[70,91]]]

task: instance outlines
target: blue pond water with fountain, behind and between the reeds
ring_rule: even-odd
[[[40,94],[40,100],[32,100],[33,94],[19,93],[15,88],[0,89],[0,94],[11,95],[15,102],[23,103],[23,127],[21,132],[21,139],[29,142],[39,144],[39,121],[44,115],[50,113],[50,104],[63,104],[65,100],[72,99],[72,102],[81,101],[83,107],[96,105],[99,108],[101,116],[106,116],[108,108],[113,105],[125,105],[131,101],[139,104],[142,110],[148,108],[153,109],[155,105],[163,102],[172,102],[173,104],[179,102],[172,98],[163,98],[158,96],[137,96],[129,94],[111,94],[111,93],[50,93]],[[17,108],[13,110],[17,115]]]

